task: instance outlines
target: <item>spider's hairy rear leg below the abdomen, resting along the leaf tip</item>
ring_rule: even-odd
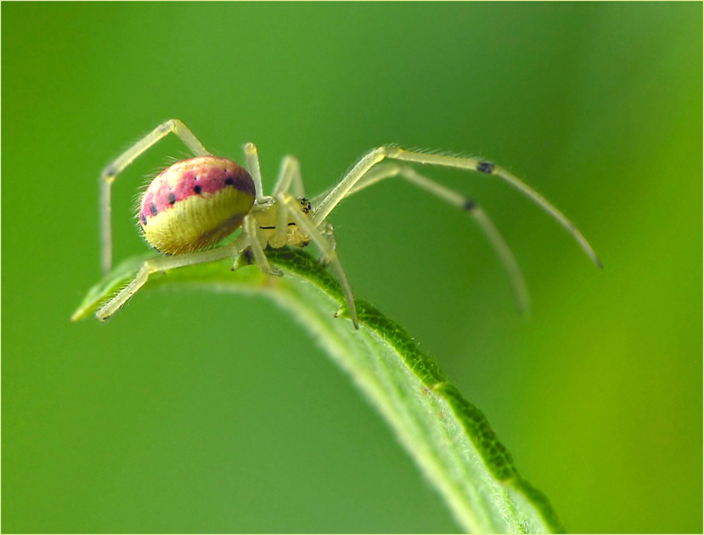
[[[100,321],[106,321],[106,319],[115,314],[139,288],[142,288],[152,273],[176,269],[183,266],[205,264],[206,262],[214,262],[215,260],[233,257],[242,252],[248,245],[249,236],[245,233],[241,233],[232,243],[228,243],[217,249],[149,259],[142,264],[142,267],[137,271],[137,276],[134,277],[132,282],[125,286],[125,288],[122,288],[122,290],[118,292],[118,295],[115,295],[115,297],[104,304],[103,307],[96,312],[96,316]]]

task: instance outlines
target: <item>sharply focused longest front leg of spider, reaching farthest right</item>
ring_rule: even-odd
[[[551,205],[540,193],[529,187],[517,176],[510,174],[503,167],[499,167],[491,162],[479,160],[472,157],[446,156],[440,154],[419,153],[413,150],[405,150],[398,147],[379,147],[364,155],[361,160],[344,176],[344,178],[333,188],[320,205],[315,207],[311,218],[315,226],[320,225],[339,202],[346,197],[348,192],[355,186],[369,170],[384,159],[398,160],[424,165],[439,165],[440,167],[451,167],[453,169],[463,169],[465,171],[477,171],[491,176],[497,176],[511,186],[519,190],[528,198],[536,202],[545,212],[550,214],[567,232],[572,234],[572,238],[579,243],[580,247],[592,259],[594,264],[601,268],[601,261],[589,245],[589,242],[582,236],[576,226],[565,217],[560,210]]]

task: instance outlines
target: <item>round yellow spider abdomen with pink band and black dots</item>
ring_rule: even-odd
[[[241,225],[255,195],[249,173],[231,160],[215,156],[183,160],[146,188],[139,226],[149,245],[163,253],[201,250]]]

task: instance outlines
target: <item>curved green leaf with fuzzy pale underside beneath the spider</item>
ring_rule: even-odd
[[[88,316],[146,257],[128,259],[89,290],[73,319]],[[256,266],[232,272],[230,260],[175,269],[144,288],[201,288],[266,295],[320,343],[382,413],[425,477],[444,497],[460,526],[472,532],[563,531],[548,500],[518,475],[510,453],[486,417],[446,381],[438,364],[405,329],[358,299],[360,329],[344,310],[337,281],[298,248],[268,251],[283,277]]]

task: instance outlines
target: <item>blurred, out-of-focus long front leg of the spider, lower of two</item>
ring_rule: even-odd
[[[503,268],[508,273],[508,277],[513,288],[513,295],[516,299],[516,304],[521,313],[525,313],[530,307],[530,298],[528,294],[527,285],[521,273],[521,269],[516,262],[513,253],[508,247],[508,244],[501,236],[498,228],[491,221],[486,212],[479,207],[474,200],[461,195],[460,193],[442,186],[440,183],[427,178],[418,173],[413,167],[408,165],[398,165],[395,163],[391,164],[381,164],[373,168],[363,176],[358,183],[355,184],[353,188],[347,193],[347,195],[353,195],[358,191],[363,190],[369,186],[373,186],[375,183],[382,181],[384,179],[389,179],[394,176],[401,176],[401,178],[406,179],[410,183],[424,189],[428,193],[441,198],[442,200],[448,202],[449,204],[460,208],[460,210],[465,210],[468,212],[474,221],[477,222],[479,228],[482,229],[484,236],[489,240],[491,247],[494,248],[496,254],[503,264]]]

